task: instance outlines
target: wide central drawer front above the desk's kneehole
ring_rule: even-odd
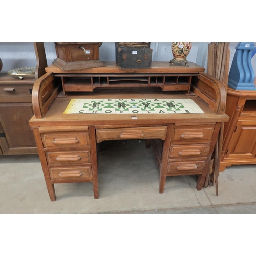
[[[97,142],[103,140],[127,140],[127,139],[162,139],[165,140],[166,126],[136,127],[120,129],[97,129]]]

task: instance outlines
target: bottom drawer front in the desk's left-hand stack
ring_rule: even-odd
[[[77,180],[92,178],[91,166],[50,168],[51,180]]]

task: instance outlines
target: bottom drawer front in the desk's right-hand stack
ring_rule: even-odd
[[[167,175],[201,174],[205,161],[169,162]]]

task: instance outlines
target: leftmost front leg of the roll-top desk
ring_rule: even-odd
[[[51,183],[47,160],[44,152],[44,145],[42,144],[41,135],[39,133],[38,127],[33,127],[33,133],[34,133],[35,142],[36,142],[36,146],[37,146],[37,150],[38,150],[38,154],[39,154],[39,158],[42,166],[42,171],[44,172],[44,176],[45,176],[47,190],[48,190],[51,201],[55,201],[56,195],[55,195],[54,184]]]

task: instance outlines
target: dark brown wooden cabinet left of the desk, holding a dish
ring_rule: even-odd
[[[0,74],[0,154],[36,154],[29,120],[33,116],[32,88],[35,77],[20,80]]]

